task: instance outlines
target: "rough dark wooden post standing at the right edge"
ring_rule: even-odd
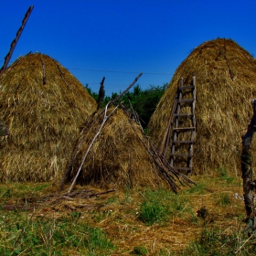
[[[248,125],[247,133],[242,135],[242,152],[241,152],[241,171],[243,179],[244,204],[247,213],[248,225],[246,229],[255,229],[255,209],[253,203],[253,191],[256,187],[255,181],[252,181],[251,170],[251,141],[253,133],[256,131],[256,100],[251,101],[253,116],[251,123]]]

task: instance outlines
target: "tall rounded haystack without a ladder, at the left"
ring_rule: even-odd
[[[61,176],[80,133],[96,109],[88,91],[58,61],[40,53],[17,59],[0,76],[0,182]]]

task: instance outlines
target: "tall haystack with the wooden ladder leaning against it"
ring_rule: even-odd
[[[203,43],[176,69],[150,120],[150,136],[160,148],[178,81],[183,77],[189,84],[193,76],[197,80],[194,173],[209,174],[219,168],[237,172],[241,134],[251,119],[251,99],[256,97],[256,61],[230,39]],[[166,155],[169,157],[170,151]]]

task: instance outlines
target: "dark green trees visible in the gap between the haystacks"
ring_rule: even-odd
[[[150,85],[147,89],[142,89],[139,84],[133,87],[133,91],[128,91],[120,101],[123,101],[123,105],[131,109],[131,105],[133,107],[133,111],[138,114],[140,117],[140,121],[144,129],[147,128],[149,123],[150,117],[155,112],[155,108],[157,103],[160,101],[161,97],[163,96],[168,83],[165,83],[163,86],[155,86]],[[91,91],[91,88],[88,84],[86,84],[87,91],[91,94],[92,98],[95,101],[98,101],[99,93],[95,91]],[[119,93],[112,92],[111,96],[103,95],[101,101],[101,108],[104,107],[109,101],[115,99]]]

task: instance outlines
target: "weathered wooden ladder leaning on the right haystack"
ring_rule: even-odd
[[[196,139],[196,77],[193,77],[189,85],[184,85],[183,82],[181,78],[162,146],[165,147],[164,157],[167,150],[170,152],[167,159],[169,164],[189,175],[193,168],[193,145]],[[172,141],[169,145],[171,130]]]

